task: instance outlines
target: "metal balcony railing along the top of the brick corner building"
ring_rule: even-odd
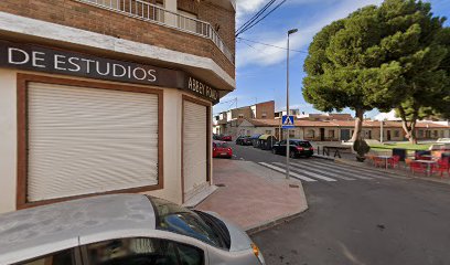
[[[222,53],[234,64],[234,55],[225,45],[224,41],[205,21],[190,18],[180,13],[168,11],[157,4],[143,0],[77,0],[79,2],[96,6],[114,12],[141,19],[157,24],[175,28],[183,32],[207,38],[222,51]]]

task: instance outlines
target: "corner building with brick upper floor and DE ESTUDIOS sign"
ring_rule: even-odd
[[[0,1],[0,212],[211,188],[234,0]]]

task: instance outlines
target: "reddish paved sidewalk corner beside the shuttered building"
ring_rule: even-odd
[[[308,209],[298,180],[255,162],[214,159],[213,183],[218,190],[196,209],[213,211],[248,233],[297,216]]]

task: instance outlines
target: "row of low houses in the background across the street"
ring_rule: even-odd
[[[247,108],[256,110],[264,108],[264,113],[269,113],[269,107],[274,108],[270,112],[270,118],[247,116],[245,113]],[[290,138],[314,141],[345,141],[352,137],[355,126],[355,121],[350,114],[300,114],[298,109],[292,109],[290,114],[296,117],[294,128],[281,129],[280,117],[286,115],[286,112],[276,113],[274,102],[233,109],[231,113],[228,120],[215,120],[214,132],[232,135],[233,137],[267,134],[276,136],[277,139],[283,139],[289,134]],[[406,140],[401,123],[397,120],[383,121],[383,125],[378,120],[364,120],[362,136],[365,139],[386,141]],[[419,140],[448,138],[450,137],[450,126],[444,123],[419,121],[416,126],[416,136]]]

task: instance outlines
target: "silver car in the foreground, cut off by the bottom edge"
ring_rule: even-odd
[[[0,264],[265,264],[212,212],[143,194],[85,198],[0,214]]]

